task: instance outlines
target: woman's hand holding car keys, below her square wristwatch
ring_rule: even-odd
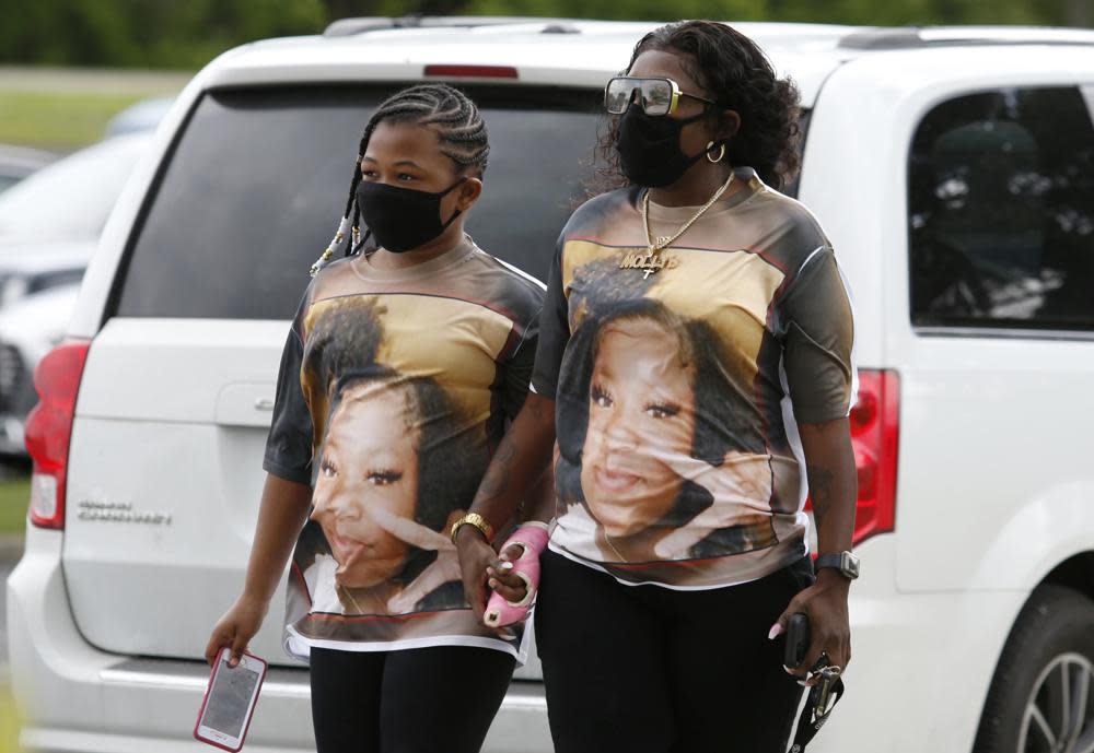
[[[790,600],[790,605],[771,626],[769,638],[783,634],[792,614],[805,613],[810,619],[810,647],[805,659],[798,667],[785,668],[790,674],[805,679],[808,671],[816,664],[821,654],[828,655],[828,662],[847,669],[851,661],[851,627],[847,616],[847,592],[851,581],[836,570],[825,568],[817,576],[817,581]],[[815,685],[819,675],[810,678],[803,683]]]

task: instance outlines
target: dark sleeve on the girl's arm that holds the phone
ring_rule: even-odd
[[[301,316],[298,313],[281,352],[274,420],[266,439],[263,468],[287,481],[311,485],[312,414],[300,386],[303,357],[304,342],[301,336]]]

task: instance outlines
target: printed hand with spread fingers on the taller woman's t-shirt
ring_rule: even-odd
[[[654,554],[662,560],[687,556],[688,550],[712,531],[763,522],[771,515],[768,456],[731,451],[726,452],[721,466],[685,456],[672,456],[665,460],[682,479],[710,492],[714,504],[654,545]]]

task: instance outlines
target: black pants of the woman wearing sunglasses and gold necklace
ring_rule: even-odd
[[[784,753],[802,687],[771,625],[806,557],[706,591],[624,586],[545,552],[536,643],[555,753]]]

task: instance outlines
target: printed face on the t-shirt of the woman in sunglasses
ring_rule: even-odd
[[[581,489],[609,537],[641,531],[673,507],[683,480],[673,458],[695,437],[694,366],[679,337],[648,317],[600,334],[589,389]]]

